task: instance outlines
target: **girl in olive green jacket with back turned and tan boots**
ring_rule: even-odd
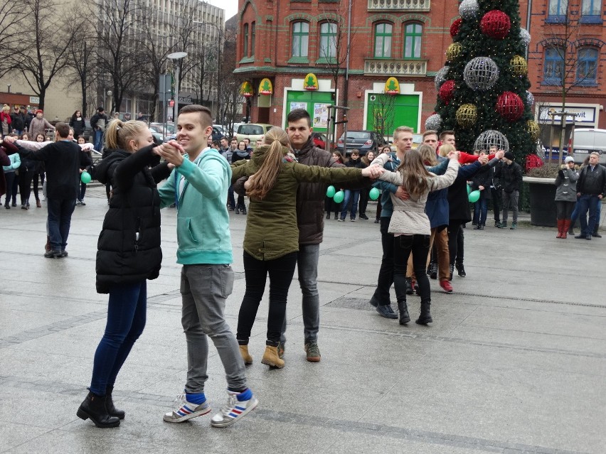
[[[280,330],[286,316],[288,288],[299,251],[297,187],[299,183],[363,183],[366,176],[378,176],[383,168],[325,168],[304,166],[289,155],[286,131],[272,128],[265,134],[265,146],[255,149],[250,161],[232,165],[232,182],[248,176],[250,198],[244,235],[246,291],[238,315],[236,338],[246,364],[252,363],[248,339],[257,309],[270,276],[270,313],[262,364],[284,367],[280,357]]]

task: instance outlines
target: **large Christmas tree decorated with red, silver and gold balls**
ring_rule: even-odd
[[[496,145],[516,161],[533,151],[538,124],[528,92],[528,31],[520,28],[517,0],[464,0],[452,23],[453,43],[437,72],[435,114],[425,129],[456,133],[457,148]]]

